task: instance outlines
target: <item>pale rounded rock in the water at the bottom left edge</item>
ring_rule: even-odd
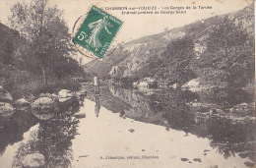
[[[40,153],[28,154],[22,161],[26,168],[38,168],[45,165],[44,156]]]

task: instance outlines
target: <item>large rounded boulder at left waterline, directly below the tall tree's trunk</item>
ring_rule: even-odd
[[[38,110],[42,113],[54,110],[55,102],[49,97],[40,97],[32,103],[32,110]]]

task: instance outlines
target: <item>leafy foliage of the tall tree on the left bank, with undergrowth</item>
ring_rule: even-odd
[[[20,67],[28,61],[33,69],[40,67],[38,73],[43,75],[44,84],[49,76],[60,79],[67,74],[83,74],[78,62],[69,57],[74,49],[69,43],[70,34],[62,11],[50,6],[47,0],[32,0],[30,4],[14,4],[11,12],[10,26],[19,30],[27,40],[20,48],[24,55]]]

